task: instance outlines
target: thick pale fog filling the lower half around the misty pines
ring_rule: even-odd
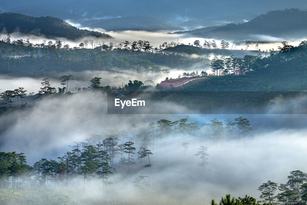
[[[25,79],[27,80],[29,79]],[[2,114],[0,120],[4,123],[0,133],[1,151],[23,152],[27,156],[27,163],[33,165],[41,158],[56,159],[63,156],[64,152],[71,150],[68,145],[84,141],[92,133],[107,137],[105,134],[108,130],[127,130],[131,123],[146,126],[160,119],[175,121],[188,118],[187,123],[196,122],[202,128],[203,124],[210,123],[212,118],[224,121],[242,116],[241,114],[106,114],[106,101],[96,96],[97,100],[94,103],[88,103],[87,99],[91,97],[92,94],[89,93],[77,93],[62,100],[62,104],[48,105],[46,99],[45,105]],[[281,100],[276,99],[276,101]],[[297,103],[297,99],[283,103],[294,104]],[[183,112],[191,113],[185,107],[168,104],[166,101],[160,101],[157,104],[157,107],[159,106],[174,111],[183,109]],[[267,108],[267,110],[274,109],[278,109],[274,104]],[[147,159],[144,158],[140,166],[136,154],[134,156],[136,165],[130,166],[130,175],[123,174],[126,168],[115,163],[114,168],[119,172],[108,175],[113,185],[106,186],[105,200],[124,200],[127,203],[138,204],[145,197],[148,204],[169,204],[172,200],[180,204],[209,204],[211,199],[218,201],[228,193],[234,197],[244,197],[247,194],[258,200],[260,192],[257,189],[262,183],[268,180],[278,184],[286,183],[290,171],[306,171],[307,165],[301,163],[303,156],[307,154],[305,149],[307,130],[304,123],[306,115],[255,114],[244,117],[250,120],[254,129],[250,133],[254,136],[253,139],[249,134],[243,141],[241,135],[239,141],[239,133],[236,130],[231,140],[227,140],[224,136],[217,143],[196,133],[176,136],[170,134],[162,138],[157,136],[153,155],[150,156],[153,164],[152,175],[150,176],[148,168],[142,167],[147,163]],[[121,143],[121,138],[119,139]],[[127,137],[125,141],[128,140]],[[138,151],[140,143],[134,140]],[[183,161],[184,148],[181,145],[183,142],[189,143],[185,152],[185,161]],[[209,164],[206,165],[206,169],[210,170],[206,170],[204,174],[201,167],[197,166],[201,163],[201,159],[195,156],[201,145],[208,146],[209,154],[207,156]],[[149,149],[152,150],[151,147]],[[147,194],[138,194],[140,190],[132,184],[138,175],[151,177],[152,185],[144,188]],[[149,184],[150,177],[146,178]],[[94,197],[101,192],[101,180],[87,181],[85,190],[86,199],[95,200]]]

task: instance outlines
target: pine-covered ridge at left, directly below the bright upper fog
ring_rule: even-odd
[[[3,60],[0,63],[1,73],[40,75],[47,72],[90,69],[128,70],[151,78],[161,75],[161,68],[154,63],[137,56],[126,56],[124,51],[118,55],[117,49],[104,50],[103,45],[95,49],[82,49],[83,43],[80,44],[81,48],[70,48],[68,44],[63,45],[62,41],[43,41],[42,44],[33,45],[29,38],[27,41],[21,39],[12,42],[9,39],[8,34],[0,41],[0,58]]]

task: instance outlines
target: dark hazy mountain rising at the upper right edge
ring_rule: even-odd
[[[268,11],[243,24],[227,24],[210,31],[192,34],[206,38],[244,40],[270,35],[280,38],[302,38],[307,32],[307,11],[285,9]]]

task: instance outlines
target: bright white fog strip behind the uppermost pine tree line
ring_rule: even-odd
[[[79,24],[74,24],[75,26],[78,27]],[[33,44],[41,44],[44,40],[45,41],[53,41],[55,42],[56,40],[61,40],[63,41],[63,45],[68,44],[71,48],[73,47],[78,47],[79,44],[85,40],[87,41],[91,41],[93,40],[95,42],[95,45],[93,45],[93,47],[95,47],[97,44],[99,43],[103,43],[105,42],[105,44],[109,44],[109,42],[113,42],[116,44],[119,44],[121,42],[124,41],[129,41],[130,43],[132,43],[133,41],[149,41],[150,45],[153,46],[153,48],[155,47],[159,47],[159,45],[163,44],[164,42],[175,42],[181,44],[185,44],[188,45],[189,43],[191,45],[193,45],[194,41],[199,40],[200,41],[200,45],[204,44],[204,41],[216,41],[216,45],[219,47],[220,46],[220,42],[222,40],[228,41],[230,45],[233,44],[233,39],[213,39],[213,38],[204,38],[204,37],[197,37],[194,36],[192,34],[169,34],[168,32],[173,32],[173,31],[156,31],[156,32],[149,32],[149,31],[133,31],[133,30],[126,30],[126,31],[109,31],[106,32],[105,30],[101,29],[101,28],[88,28],[88,27],[80,27],[80,29],[88,29],[88,30],[94,30],[94,31],[99,31],[99,32],[104,32],[107,33],[109,35],[111,35],[112,39],[104,39],[104,38],[95,38],[95,37],[84,37],[82,39],[78,39],[78,40],[69,40],[63,37],[56,37],[56,38],[47,38],[44,35],[41,34],[37,34],[37,35],[33,35],[33,34],[21,34],[19,32],[14,32],[11,35],[11,41],[14,40],[19,40],[19,39],[23,39],[26,40],[27,38],[30,38],[30,42]],[[33,31],[34,32],[34,31]],[[6,33],[2,33],[3,36],[6,36]],[[177,39],[178,38],[178,39]],[[280,38],[280,37],[274,37],[274,36],[270,36],[270,35],[261,35],[261,34],[249,34],[246,38],[241,39],[241,41],[246,41],[246,40],[251,40],[251,41],[272,41],[272,42],[260,42],[258,49],[261,50],[269,50],[269,49],[275,49],[278,50],[278,46],[282,46],[281,42],[282,41],[288,41],[289,45],[293,45],[293,46],[297,46],[301,41],[306,40],[306,38],[301,38],[301,39],[296,39],[296,38]],[[275,42],[278,41],[278,42]],[[87,48],[91,48],[91,45],[87,45]],[[231,48],[231,46],[229,47],[229,49],[237,49],[237,50],[245,50],[246,49],[246,45],[237,45],[236,47]],[[248,50],[255,50],[255,45],[250,45],[250,47],[248,48]]]

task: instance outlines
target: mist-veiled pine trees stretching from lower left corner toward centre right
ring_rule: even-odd
[[[32,166],[26,163],[24,153],[0,152],[0,188],[5,196],[0,199],[1,203],[87,204],[90,200],[91,204],[126,204],[112,193],[112,187],[123,180],[131,185],[130,194],[139,192],[140,200],[151,203],[153,198],[149,194],[155,192],[151,189],[158,183],[152,175],[159,175],[162,171],[158,162],[163,156],[159,152],[169,140],[182,141],[178,147],[183,151],[180,163],[191,160],[188,156],[191,154],[186,153],[192,152],[196,156],[193,169],[202,177],[210,171],[209,147],[199,145],[191,150],[195,141],[187,136],[193,135],[197,144],[210,141],[214,145],[211,149],[215,150],[223,144],[242,144],[254,138],[249,135],[253,130],[250,121],[243,116],[223,121],[213,118],[201,127],[188,121],[188,118],[161,119],[146,126],[131,123],[121,130],[109,129],[104,134],[91,134],[84,141],[71,143],[67,151],[56,159],[41,158]],[[140,175],[143,172],[146,175]],[[96,199],[88,199],[86,190],[97,186],[91,183],[94,180],[98,180],[102,192]],[[64,194],[57,195],[59,191]],[[25,194],[22,199],[18,198],[20,193]],[[28,196],[31,194],[34,195],[32,199]],[[37,198],[37,194],[43,195],[44,201]],[[142,204],[141,201],[135,202]]]

